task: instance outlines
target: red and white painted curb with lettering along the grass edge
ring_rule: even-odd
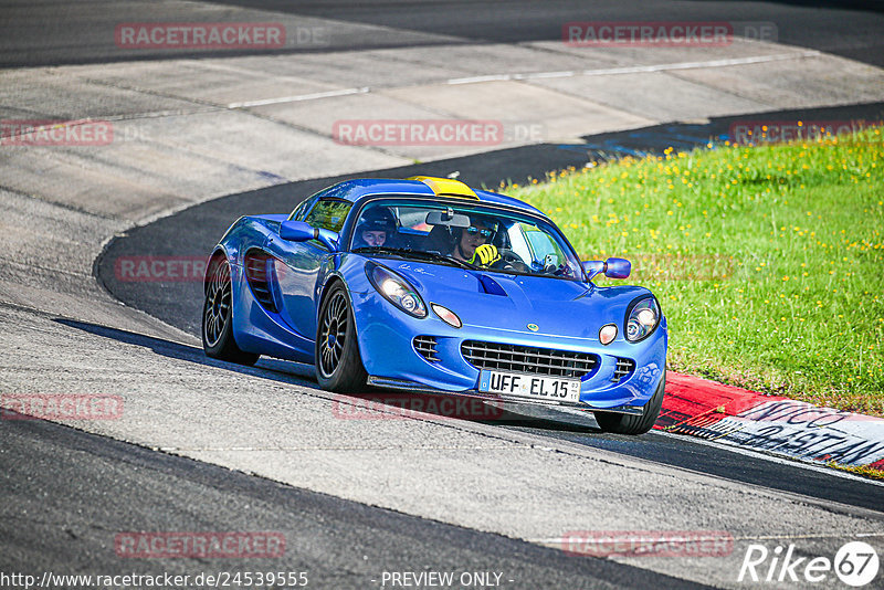
[[[884,472],[884,420],[669,372],[657,430]]]

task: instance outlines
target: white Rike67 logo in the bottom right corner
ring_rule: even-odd
[[[863,541],[844,544],[834,559],[796,556],[794,545],[769,551],[764,545],[749,545],[737,581],[819,583],[835,576],[845,584],[859,588],[875,580],[878,570],[875,549]],[[880,587],[877,587],[880,588]]]

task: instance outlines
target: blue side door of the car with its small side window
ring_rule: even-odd
[[[352,203],[340,199],[319,199],[304,218],[314,228],[340,231]],[[274,235],[267,243],[274,256],[274,272],[282,299],[280,315],[301,336],[316,338],[316,297],[319,267],[332,252],[318,240],[288,242]]]

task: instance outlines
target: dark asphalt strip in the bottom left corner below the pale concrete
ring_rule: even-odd
[[[4,502],[31,515],[3,518],[3,567],[62,572],[88,561],[114,571],[103,557],[108,530],[156,527],[199,530],[277,530],[285,558],[274,569],[307,572],[311,587],[364,588],[385,570],[410,570],[415,562],[436,571],[506,571],[526,588],[702,588],[612,561],[572,559],[558,549],[370,508],[324,494],[292,488],[213,465],[170,457],[138,446],[85,434],[49,422],[14,421],[4,429],[0,455]],[[28,465],[12,459],[27,455]],[[57,507],[40,502],[65,482]],[[104,485],[97,486],[102,481]],[[194,502],[199,498],[199,502]],[[76,539],[76,545],[72,544]],[[107,561],[110,560],[112,563]],[[244,560],[243,571],[264,569]],[[181,560],[156,559],[133,566],[138,573],[183,575]],[[221,559],[199,569],[224,571]],[[7,570],[8,571],[8,570]]]

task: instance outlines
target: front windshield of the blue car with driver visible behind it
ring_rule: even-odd
[[[551,223],[472,203],[369,202],[356,219],[350,251],[517,275],[583,276]]]

